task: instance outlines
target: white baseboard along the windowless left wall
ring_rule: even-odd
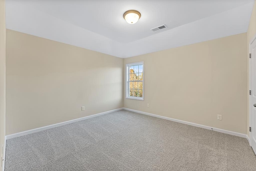
[[[54,128],[54,127],[59,127],[59,126],[62,126],[62,125],[66,125],[66,124],[77,122],[77,121],[82,121],[84,119],[89,119],[89,118],[100,116],[100,115],[105,115],[107,113],[111,113],[111,112],[114,112],[114,111],[119,111],[119,110],[122,110],[122,109],[123,108],[114,109],[114,110],[110,110],[110,111],[105,111],[105,112],[102,112],[102,113],[97,113],[97,114],[94,114],[94,115],[90,115],[90,116],[86,116],[86,117],[81,117],[81,118],[73,119],[73,120],[70,120],[70,121],[65,121],[65,122],[56,123],[56,124],[53,124],[53,125],[48,125],[48,126],[45,126],[45,127],[40,127],[40,128],[36,128],[36,129],[31,129],[31,130],[28,130],[28,131],[23,131],[23,132],[19,132],[19,133],[14,133],[14,134],[6,135],[6,139],[11,139],[11,138],[15,138],[15,137],[20,137],[22,135],[28,135],[30,133],[44,131],[46,129],[50,129],[50,128]]]

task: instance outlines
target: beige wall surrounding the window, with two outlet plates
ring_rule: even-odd
[[[124,59],[144,61],[144,101],[124,94],[124,107],[247,133],[246,42],[244,33]]]

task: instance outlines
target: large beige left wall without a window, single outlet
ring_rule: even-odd
[[[122,80],[121,58],[6,30],[6,135],[123,107]]]

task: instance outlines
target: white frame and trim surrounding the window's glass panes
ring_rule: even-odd
[[[130,66],[136,66],[136,65],[142,65],[143,66],[143,75],[142,75],[142,97],[131,97],[129,96],[129,82],[128,82],[128,79],[129,79],[129,76],[128,76],[128,73],[130,74],[130,71],[129,71],[129,67]],[[142,100],[144,101],[144,62],[135,62],[135,63],[131,63],[131,64],[126,64],[126,99],[135,99],[135,100]]]

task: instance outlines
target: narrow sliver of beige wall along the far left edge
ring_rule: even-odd
[[[4,145],[5,136],[5,1],[0,0],[0,156],[2,156],[2,146]],[[2,162],[2,160],[1,160]],[[0,162],[0,168],[2,164]]]

